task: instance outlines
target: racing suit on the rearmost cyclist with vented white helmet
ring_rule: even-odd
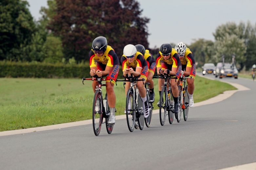
[[[186,67],[191,67],[190,75],[193,78],[196,76],[196,64],[195,60],[193,58],[192,52],[190,51],[189,48],[186,49],[184,58],[181,59],[181,64],[182,64],[182,70],[186,70]]]

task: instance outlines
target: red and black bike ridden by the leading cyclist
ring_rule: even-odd
[[[84,84],[84,80],[92,80],[97,81],[98,85],[96,86],[96,91],[93,97],[93,104],[92,104],[92,126],[93,132],[96,136],[100,134],[101,125],[103,123],[106,124],[108,134],[111,134],[114,125],[108,124],[108,119],[110,115],[109,106],[108,106],[108,95],[105,94],[105,98],[103,98],[102,94],[102,86],[106,86],[103,84],[102,81],[106,81],[109,79],[105,79],[103,77],[95,76],[95,78],[82,78],[82,82]],[[110,80],[111,81],[111,80]],[[96,103],[99,103],[98,110],[96,107]],[[103,122],[103,118],[105,118],[105,122]]]

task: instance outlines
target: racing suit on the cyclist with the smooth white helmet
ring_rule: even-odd
[[[128,69],[128,68],[133,68],[134,71],[136,70],[137,67],[142,68],[141,77],[143,77],[145,80],[147,80],[148,64],[140,52],[138,52],[138,51],[136,52],[135,59],[134,59],[133,63],[129,63],[126,56],[123,55],[121,57],[121,64],[122,64],[123,71],[125,71],[125,69]]]

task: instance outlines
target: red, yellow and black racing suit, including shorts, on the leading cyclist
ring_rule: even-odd
[[[106,79],[109,80],[107,80],[106,82],[112,79],[113,81],[111,82],[115,83],[119,73],[119,59],[111,46],[108,45],[106,51],[100,57],[98,57],[91,49],[91,51],[89,52],[89,58],[90,68],[97,67],[97,70],[104,71],[106,69],[106,66],[112,67],[111,71],[106,77]]]

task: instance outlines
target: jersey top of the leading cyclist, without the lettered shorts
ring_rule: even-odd
[[[113,67],[113,65],[119,65],[119,59],[111,46],[107,46],[106,51],[102,56],[98,57],[94,50],[89,52],[90,67],[97,67],[97,62]]]

